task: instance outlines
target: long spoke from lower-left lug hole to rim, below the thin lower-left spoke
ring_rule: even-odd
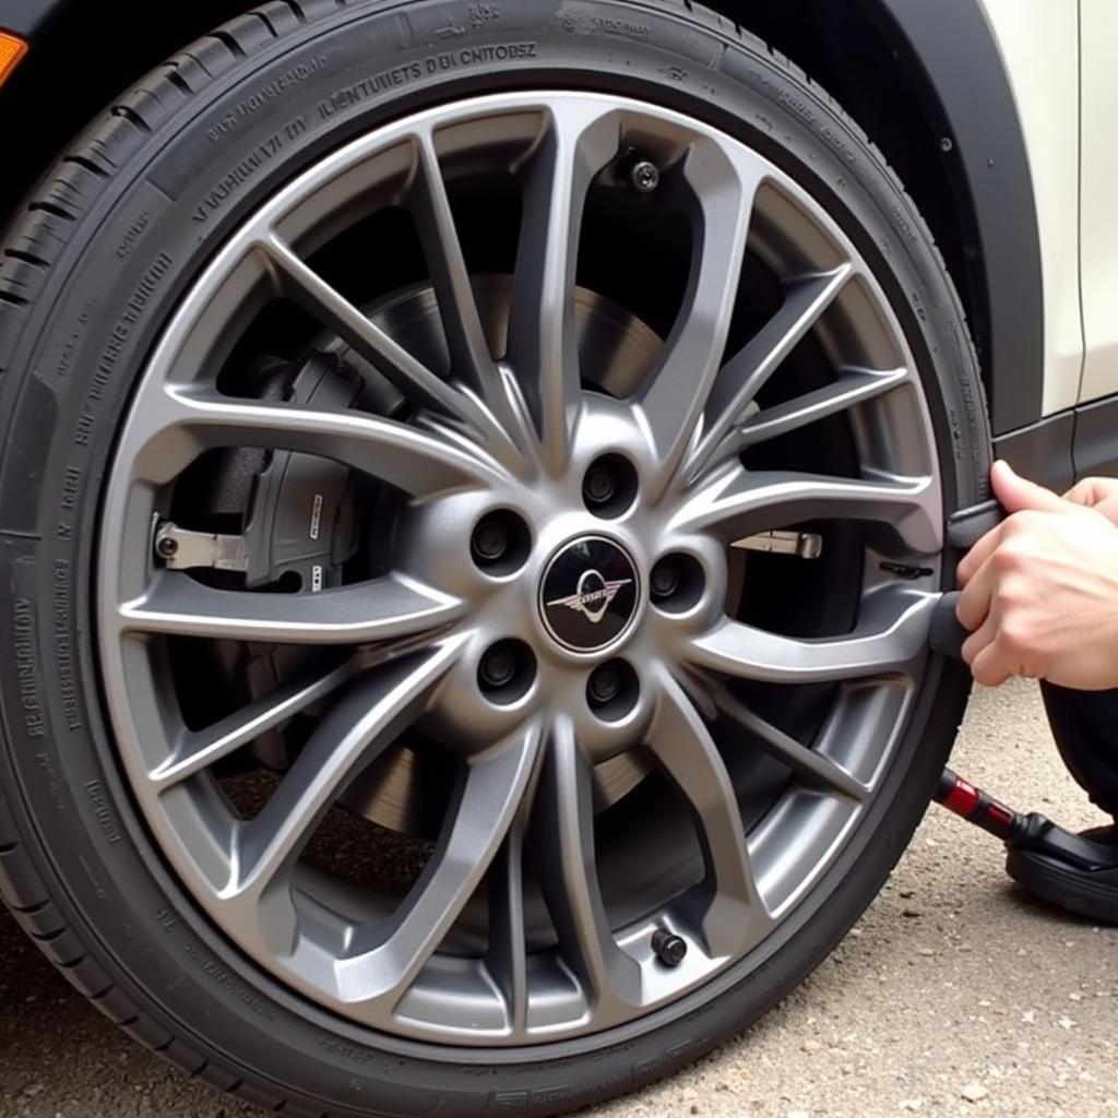
[[[423,712],[459,647],[447,641],[381,665],[331,707],[264,809],[237,832],[227,903],[255,910],[349,781]]]

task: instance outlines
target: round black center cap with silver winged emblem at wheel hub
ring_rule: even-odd
[[[540,585],[540,613],[565,648],[597,652],[632,625],[639,595],[636,565],[610,540],[584,536],[560,550]]]

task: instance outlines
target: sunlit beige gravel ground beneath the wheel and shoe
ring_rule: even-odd
[[[979,694],[955,762],[1010,803],[1098,822],[1035,689]],[[885,891],[750,1034],[596,1118],[1118,1116],[1118,930],[1014,892],[997,845],[935,809]],[[113,1029],[0,917],[0,1116],[256,1115]]]

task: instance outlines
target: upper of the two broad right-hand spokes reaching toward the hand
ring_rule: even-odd
[[[888,524],[911,553],[944,547],[939,490],[931,477],[860,481],[735,465],[700,489],[675,527],[732,543],[806,520],[868,520]]]

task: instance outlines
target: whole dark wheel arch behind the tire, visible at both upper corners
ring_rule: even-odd
[[[705,2],[806,69],[882,149],[959,290],[995,434],[1041,418],[1036,205],[1008,75],[978,0]],[[96,107],[248,3],[196,0],[172,6],[158,21],[143,19],[146,7],[120,0],[107,22],[84,0],[6,6],[6,26],[32,49],[0,95],[0,134],[21,152],[0,182],[0,219],[15,212]],[[112,64],[89,65],[91,58]],[[67,97],[58,96],[59,73],[74,75]],[[42,105],[50,106],[46,116]]]

